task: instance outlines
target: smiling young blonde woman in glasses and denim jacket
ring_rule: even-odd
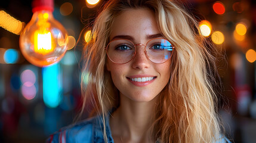
[[[177,2],[111,0],[91,38],[82,89],[92,117],[48,142],[230,142],[215,108],[211,44]]]

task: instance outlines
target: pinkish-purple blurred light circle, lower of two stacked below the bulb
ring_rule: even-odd
[[[32,83],[24,83],[21,86],[21,94],[26,100],[32,100],[36,97],[36,87]]]

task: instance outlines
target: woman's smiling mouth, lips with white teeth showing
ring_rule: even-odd
[[[156,79],[156,76],[143,76],[143,77],[132,76],[132,77],[127,77],[127,79],[132,84],[142,87],[152,83]]]

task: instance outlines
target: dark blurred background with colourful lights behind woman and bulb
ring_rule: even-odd
[[[0,142],[45,142],[51,133],[73,123],[81,108],[80,83],[87,82],[81,81],[82,48],[104,2],[54,1],[53,15],[69,34],[69,50],[58,64],[44,68],[26,61],[18,43],[33,15],[32,0],[0,2]],[[255,143],[256,1],[183,2],[201,19],[201,34],[224,55],[218,58],[218,71],[227,136],[232,142]]]

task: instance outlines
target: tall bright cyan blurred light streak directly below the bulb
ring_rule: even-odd
[[[59,64],[44,67],[42,70],[43,76],[43,98],[47,107],[55,108],[61,101],[61,74]]]

